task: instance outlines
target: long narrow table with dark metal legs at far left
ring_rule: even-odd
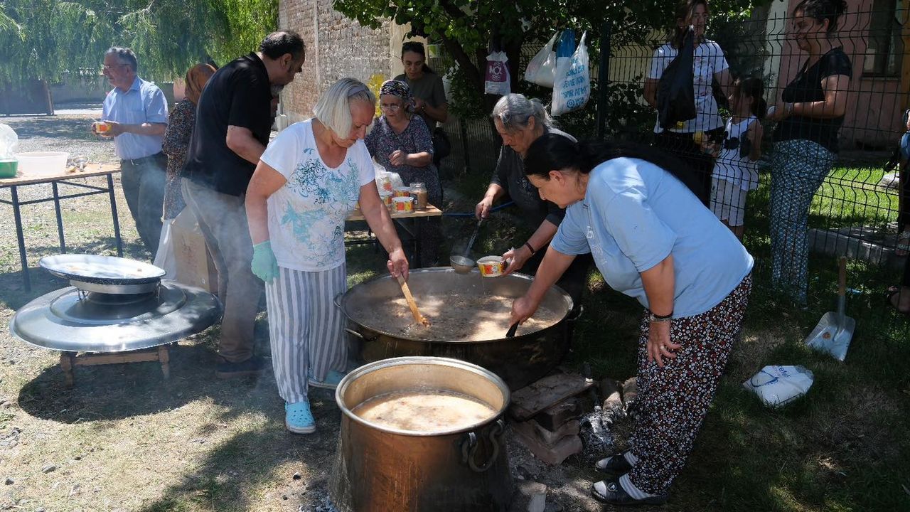
[[[13,207],[13,219],[15,220],[15,238],[19,245],[19,263],[22,266],[22,281],[25,292],[32,291],[32,280],[28,275],[28,260],[25,256],[25,234],[23,232],[22,212],[20,207],[27,204],[36,204],[47,201],[54,201],[54,213],[56,214],[57,238],[60,241],[60,251],[66,252],[66,240],[64,238],[63,216],[60,212],[60,201],[96,194],[107,194],[111,203],[111,216],[114,222],[114,239],[116,241],[117,256],[123,256],[123,241],[120,238],[120,223],[116,215],[116,197],[114,195],[114,174],[120,172],[120,166],[116,164],[93,164],[87,165],[85,170],[76,172],[60,172],[53,175],[35,176],[20,175],[15,178],[0,179],[0,189],[9,189],[10,200],[0,198],[0,202]],[[95,176],[105,176],[107,186],[88,185],[76,179],[91,178]],[[42,183],[51,184],[52,195],[49,198],[35,200],[19,200],[19,188],[28,185],[39,185]],[[67,185],[78,189],[87,189],[86,192],[77,192],[70,194],[60,194],[59,186]]]

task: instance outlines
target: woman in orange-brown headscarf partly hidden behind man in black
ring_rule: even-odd
[[[161,237],[155,254],[155,264],[173,277],[176,273],[173,245],[171,244],[170,225],[187,205],[180,192],[180,170],[187,159],[189,136],[196,124],[196,104],[208,78],[215,74],[215,67],[208,64],[197,64],[187,71],[184,82],[184,99],[177,102],[170,111],[165,128],[164,142],[161,150],[167,155],[167,173],[165,181],[165,200],[161,218]]]

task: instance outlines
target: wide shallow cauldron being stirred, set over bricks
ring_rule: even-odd
[[[410,271],[408,282],[420,305],[421,297],[445,297],[453,291],[490,293],[517,299],[527,292],[532,279],[524,274],[482,278],[476,270],[460,274],[448,267],[440,267]],[[541,305],[560,314],[558,323],[514,338],[506,338],[503,330],[501,338],[483,341],[421,340],[389,333],[382,325],[364,323],[364,312],[377,303],[400,296],[398,282],[383,276],[354,286],[336,301],[353,324],[347,329],[353,337],[351,348],[362,361],[369,363],[405,355],[451,357],[487,368],[515,390],[548,374],[569,350],[566,317],[571,312],[572,301],[569,294],[557,286],[547,292]]]

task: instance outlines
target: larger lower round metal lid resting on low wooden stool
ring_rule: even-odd
[[[16,338],[70,352],[121,352],[199,333],[221,318],[209,292],[162,281],[156,293],[111,295],[68,287],[19,308],[9,324]]]

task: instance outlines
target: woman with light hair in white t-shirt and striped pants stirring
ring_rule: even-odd
[[[347,290],[344,221],[358,200],[389,252],[389,271],[408,277],[363,143],[375,108],[367,86],[339,80],[319,97],[314,118],[268,145],[247,189],[252,270],[266,283],[272,367],[285,425],[297,434],[316,430],[308,386],[332,389],[346,370],[344,316],[332,300]]]

